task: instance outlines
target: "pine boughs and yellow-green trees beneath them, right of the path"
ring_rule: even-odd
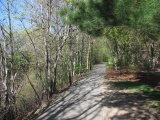
[[[106,36],[113,63],[155,67],[159,57],[155,46],[155,43],[159,44],[159,1],[85,0],[71,3],[72,6],[61,10],[64,22],[77,25],[90,35]]]

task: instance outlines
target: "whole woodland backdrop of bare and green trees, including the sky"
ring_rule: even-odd
[[[0,0],[0,119],[30,115],[97,63],[120,74],[123,67],[158,73],[159,6],[159,0]]]

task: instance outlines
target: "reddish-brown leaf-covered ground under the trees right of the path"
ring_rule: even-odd
[[[160,90],[160,68],[156,68],[153,73],[148,73],[144,68],[131,70],[124,67],[121,74],[120,69],[116,71],[113,68],[107,68],[106,73],[105,79],[138,81]]]

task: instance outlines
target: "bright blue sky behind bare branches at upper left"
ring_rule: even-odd
[[[13,3],[11,5],[12,28],[14,30],[22,31],[24,30],[23,24],[25,25],[27,29],[33,28],[34,23],[31,24],[31,21],[29,20],[30,19],[29,14],[32,13],[32,10],[26,7],[28,5],[27,3],[29,3],[30,5],[33,5],[34,9],[36,9],[37,6],[39,7],[39,5],[36,6],[36,1],[42,2],[43,0],[0,0],[0,25],[5,25],[6,29],[9,26],[8,12],[7,12],[8,1],[12,1],[11,3]],[[53,0],[53,3],[59,2],[59,1],[61,0]],[[25,8],[27,8],[27,10],[25,10]],[[22,19],[20,18],[27,18],[27,19],[23,19],[23,24],[22,24],[21,23]]]

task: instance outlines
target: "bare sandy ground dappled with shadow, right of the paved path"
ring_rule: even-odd
[[[113,82],[113,81],[112,81]],[[151,106],[151,101],[157,100],[149,94],[135,91],[127,91],[124,88],[131,87],[123,82],[106,82],[107,87],[103,101],[106,120],[160,120],[155,107]],[[126,82],[124,82],[126,83]],[[132,84],[137,87],[139,84]]]

